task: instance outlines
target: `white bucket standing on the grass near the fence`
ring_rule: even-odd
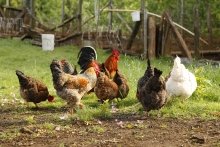
[[[44,51],[54,49],[54,35],[53,34],[42,34],[42,49]]]

